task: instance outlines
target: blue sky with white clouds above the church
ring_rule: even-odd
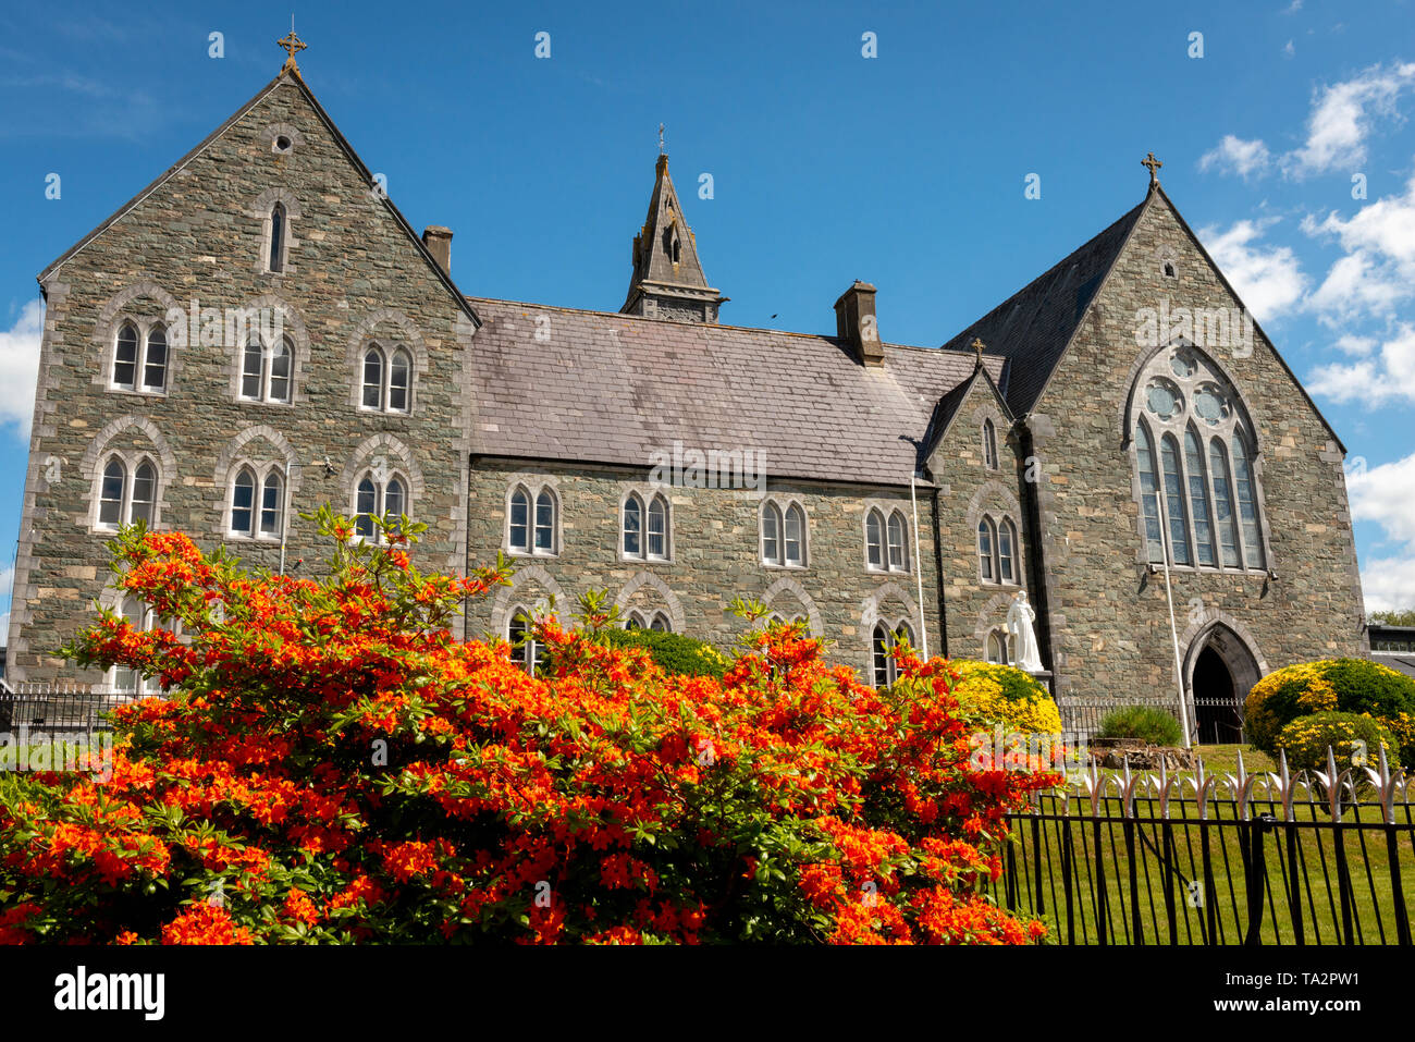
[[[412,224],[454,229],[477,296],[616,310],[664,122],[723,321],[832,331],[860,277],[886,340],[940,344],[1138,202],[1153,150],[1347,445],[1368,607],[1415,606],[1411,3],[294,14],[306,81]],[[0,612],[34,276],[273,76],[289,25],[289,0],[0,14]]]

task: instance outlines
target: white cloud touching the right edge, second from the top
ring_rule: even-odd
[[[1415,296],[1415,178],[1404,195],[1390,195],[1361,207],[1350,219],[1332,211],[1307,217],[1302,231],[1334,238],[1346,251],[1307,300],[1329,324],[1361,314],[1391,317]]]

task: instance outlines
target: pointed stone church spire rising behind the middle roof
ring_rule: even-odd
[[[620,311],[712,324],[717,321],[717,306],[726,299],[708,285],[698,260],[698,242],[683,219],[674,178],[668,176],[668,154],[662,151],[659,127],[654,194],[648,200],[644,228],[634,236],[634,275]]]

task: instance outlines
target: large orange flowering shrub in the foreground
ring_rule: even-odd
[[[975,770],[944,660],[865,687],[799,627],[719,681],[536,623],[541,677],[450,633],[505,580],[334,544],[253,575],[125,531],[67,654],[160,678],[116,711],[112,776],[0,777],[0,941],[1022,943],[1005,814],[1056,774]],[[174,623],[180,622],[180,627]],[[177,634],[181,636],[177,636]]]

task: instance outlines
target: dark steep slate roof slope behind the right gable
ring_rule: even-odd
[[[978,338],[986,344],[988,355],[1009,357],[1007,405],[1017,416],[1030,412],[1143,210],[1142,201],[944,348],[966,350]]]

